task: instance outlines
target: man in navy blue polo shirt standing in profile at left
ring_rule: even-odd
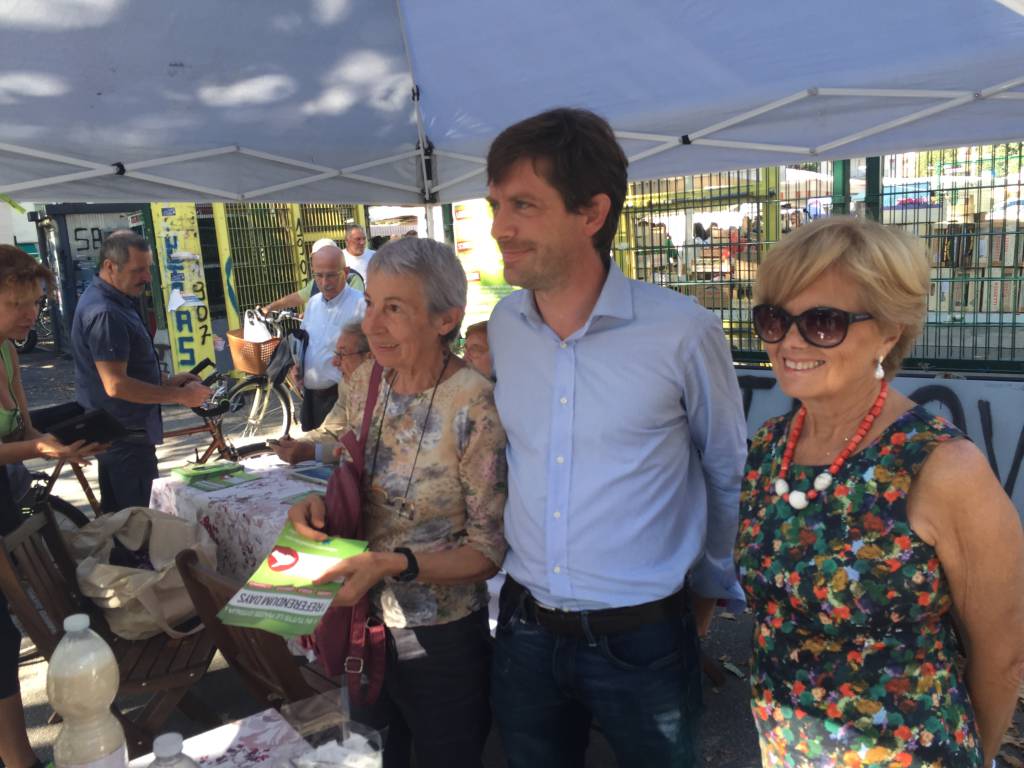
[[[152,265],[144,238],[127,229],[113,232],[100,247],[99,268],[72,324],[78,401],[109,411],[132,433],[97,457],[104,512],[148,506],[164,436],[161,403],[195,408],[210,396],[193,374],[163,378],[138,301]]]

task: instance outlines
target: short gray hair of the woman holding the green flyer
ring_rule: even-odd
[[[427,311],[433,315],[449,309],[466,308],[466,271],[449,246],[428,238],[399,238],[381,246],[370,266],[370,274],[412,274],[423,286]],[[456,326],[444,335],[450,344],[459,337]]]

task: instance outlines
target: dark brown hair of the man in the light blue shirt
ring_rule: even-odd
[[[502,131],[487,152],[487,181],[501,183],[520,160],[562,197],[565,210],[579,213],[595,195],[611,200],[594,248],[607,266],[611,241],[626,200],[626,154],[611,126],[587,110],[561,108],[535,115]]]

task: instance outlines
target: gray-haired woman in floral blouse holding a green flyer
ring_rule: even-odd
[[[402,238],[377,252],[362,329],[384,368],[366,445],[364,514],[370,551],[330,577],[336,604],[368,592],[389,634],[385,765],[479,766],[490,725],[485,580],[505,557],[505,431],[493,385],[449,349],[466,307],[466,274],[452,250]],[[358,425],[373,362],[343,383]],[[314,540],[321,497],[289,511]]]

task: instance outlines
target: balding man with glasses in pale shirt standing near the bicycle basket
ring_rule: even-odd
[[[310,258],[319,293],[309,299],[302,329],[309,334],[302,374],[301,426],[315,429],[338,399],[341,372],[331,365],[334,344],[342,327],[366,311],[362,292],[345,285],[345,262],[341,249],[328,245]]]

